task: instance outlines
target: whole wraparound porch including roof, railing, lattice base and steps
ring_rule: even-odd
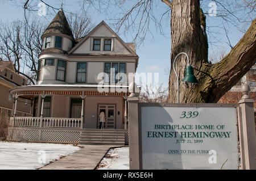
[[[127,87],[125,87],[127,89]],[[10,90],[14,97],[9,140],[76,144],[127,144],[127,96],[99,92],[97,85],[23,86]],[[31,100],[31,117],[16,115],[16,100]],[[99,129],[100,112],[105,113]]]

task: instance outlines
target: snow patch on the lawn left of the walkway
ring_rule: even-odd
[[[38,169],[79,149],[66,144],[0,141],[0,169]]]

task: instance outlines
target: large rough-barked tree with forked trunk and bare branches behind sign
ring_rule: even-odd
[[[118,10],[114,14],[116,18],[110,18],[110,20],[114,22],[117,31],[133,33],[134,41],[142,42],[148,33],[153,35],[152,23],[161,31],[164,19],[171,20],[171,22],[167,22],[171,28],[171,72],[168,102],[177,100],[177,79],[172,71],[172,66],[174,66],[172,63],[180,52],[188,54],[192,60],[192,66],[195,68],[196,77],[199,79],[197,87],[191,89],[180,87],[180,100],[184,103],[216,103],[256,62],[256,20],[254,20],[255,1],[253,0],[162,0],[167,6],[160,18],[156,16],[160,1],[80,0],[79,2],[83,9],[88,7],[100,12],[109,12],[109,16],[113,14],[113,11]],[[209,28],[205,15],[212,15],[212,12],[209,13],[204,7],[208,8],[209,2],[214,2],[217,5],[216,17],[222,19],[224,22],[222,25],[231,24],[245,32],[248,23],[251,23],[240,42],[236,46],[232,45],[230,53],[217,64],[210,64],[208,61],[207,30]],[[109,7],[112,11],[107,11]],[[222,28],[226,27],[222,26]],[[178,68],[177,73],[180,79],[184,77],[186,65],[185,56],[177,58],[175,66]]]

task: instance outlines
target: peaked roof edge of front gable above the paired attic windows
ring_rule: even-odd
[[[92,35],[92,33],[94,33],[96,30],[98,30],[98,28],[100,28],[100,26],[101,26],[102,24],[103,24],[106,28],[108,28],[108,30],[109,30],[110,32],[112,32],[112,33],[115,35],[115,37],[122,43],[122,45],[123,45],[125,48],[127,48],[127,50],[129,50],[129,52],[130,52],[131,54],[133,54],[134,56],[137,56],[136,52],[135,52],[133,49],[130,48],[130,44],[126,44],[126,43],[108,26],[108,24],[106,24],[106,23],[104,22],[104,20],[102,20],[101,23],[99,23],[95,28],[93,28],[92,31],[90,31],[85,37],[83,37],[82,40],[80,40],[79,43],[77,43],[77,44],[75,45],[75,47],[73,47],[71,50],[69,50],[68,54],[71,54],[71,53],[74,52],[77,48],[79,48],[80,45],[82,45],[82,44],[84,43],[84,41],[86,41],[86,40],[90,37],[90,35]],[[135,47],[135,44],[134,44],[133,46]]]

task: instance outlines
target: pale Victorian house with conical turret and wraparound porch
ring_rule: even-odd
[[[123,74],[137,69],[135,44],[123,42],[104,21],[75,40],[63,10],[42,41],[36,85],[10,90],[33,100],[33,117],[14,117],[14,126],[98,129],[103,111],[105,129],[127,130],[129,82]],[[103,90],[98,83],[105,83]]]

